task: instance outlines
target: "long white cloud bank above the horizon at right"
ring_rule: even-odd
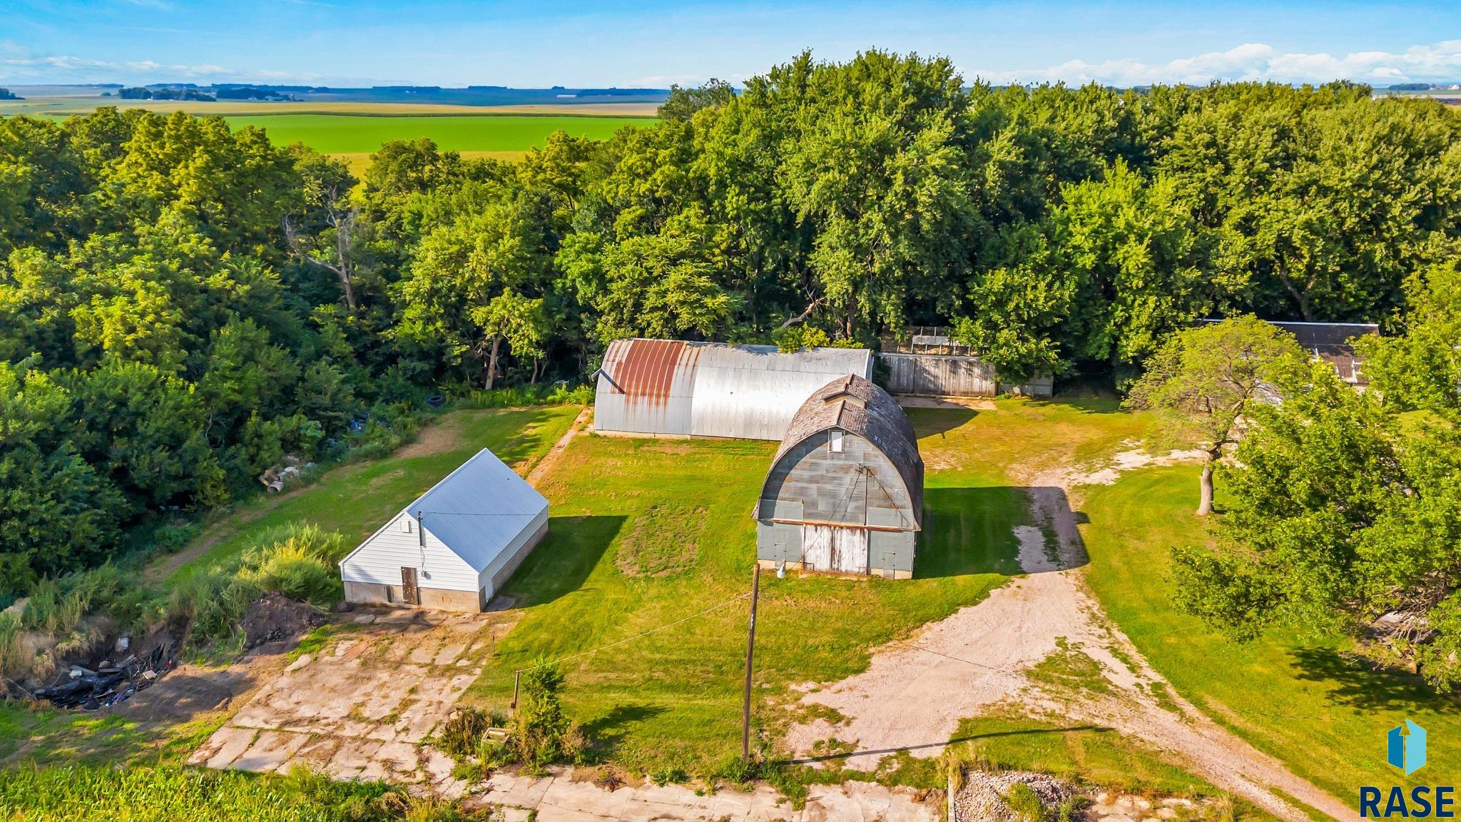
[[[1327,53],[1280,53],[1262,42],[1245,42],[1227,51],[1208,51],[1169,63],[1132,59],[1087,63],[1071,60],[1045,69],[1017,72],[966,70],[992,83],[1100,82],[1118,86],[1148,83],[1207,83],[1211,80],[1277,80],[1322,83],[1347,79],[1378,85],[1442,82],[1461,79],[1461,39],[1414,45],[1400,54],[1354,51],[1335,57]]]

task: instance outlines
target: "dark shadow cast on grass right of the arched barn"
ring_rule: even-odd
[[[1065,490],[1058,487],[925,489],[923,532],[919,534],[913,578],[1080,568],[1088,562],[1086,544],[1075,529],[1081,516],[1071,510]],[[1043,537],[1042,546],[1031,546],[1024,557],[1015,534],[1021,525],[1039,529]],[[1065,535],[1064,547],[1061,534]],[[1026,538],[1031,537],[1027,532]]]

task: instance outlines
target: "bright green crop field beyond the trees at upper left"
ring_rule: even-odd
[[[443,151],[504,152],[543,145],[564,130],[576,137],[608,139],[625,126],[653,126],[647,117],[595,116],[374,116],[374,114],[257,114],[225,117],[234,129],[257,126],[275,145],[302,142],[323,154],[365,154],[387,140],[431,137]]]

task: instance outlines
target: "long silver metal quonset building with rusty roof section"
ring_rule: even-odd
[[[847,374],[872,379],[872,351],[617,339],[599,369],[593,430],[780,440],[804,399]]]

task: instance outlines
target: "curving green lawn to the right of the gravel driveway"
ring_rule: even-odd
[[[1414,677],[1351,663],[1343,644],[1284,632],[1229,642],[1172,608],[1169,548],[1207,538],[1191,513],[1194,471],[1137,471],[1090,489],[1081,505],[1090,585],[1153,667],[1210,717],[1351,807],[1363,784],[1438,784],[1461,771],[1461,705]],[[1407,717],[1429,731],[1429,763],[1408,780],[1385,763],[1385,734]]]

